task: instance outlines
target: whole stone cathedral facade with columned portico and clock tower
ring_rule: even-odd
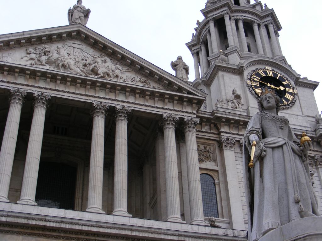
[[[71,11],[69,26],[0,35],[1,240],[246,240],[243,135],[267,85],[313,141],[322,212],[318,82],[288,65],[273,9],[208,0],[201,12],[193,82]]]

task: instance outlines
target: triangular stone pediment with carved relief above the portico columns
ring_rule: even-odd
[[[189,83],[81,24],[0,35],[0,61],[205,96]]]

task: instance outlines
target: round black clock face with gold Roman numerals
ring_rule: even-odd
[[[281,107],[290,107],[295,103],[297,92],[289,79],[271,67],[254,69],[247,77],[247,86],[255,97],[259,97],[265,87],[275,91],[280,98]]]

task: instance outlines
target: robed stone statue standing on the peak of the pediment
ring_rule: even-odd
[[[82,3],[82,0],[78,0],[77,4],[75,4],[72,9],[68,9],[69,25],[78,23],[81,23],[84,26],[86,25],[88,18],[90,17],[90,9],[86,9]]]

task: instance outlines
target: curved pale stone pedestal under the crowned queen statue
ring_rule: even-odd
[[[258,241],[321,241],[321,227],[322,217],[302,218],[269,231]]]

